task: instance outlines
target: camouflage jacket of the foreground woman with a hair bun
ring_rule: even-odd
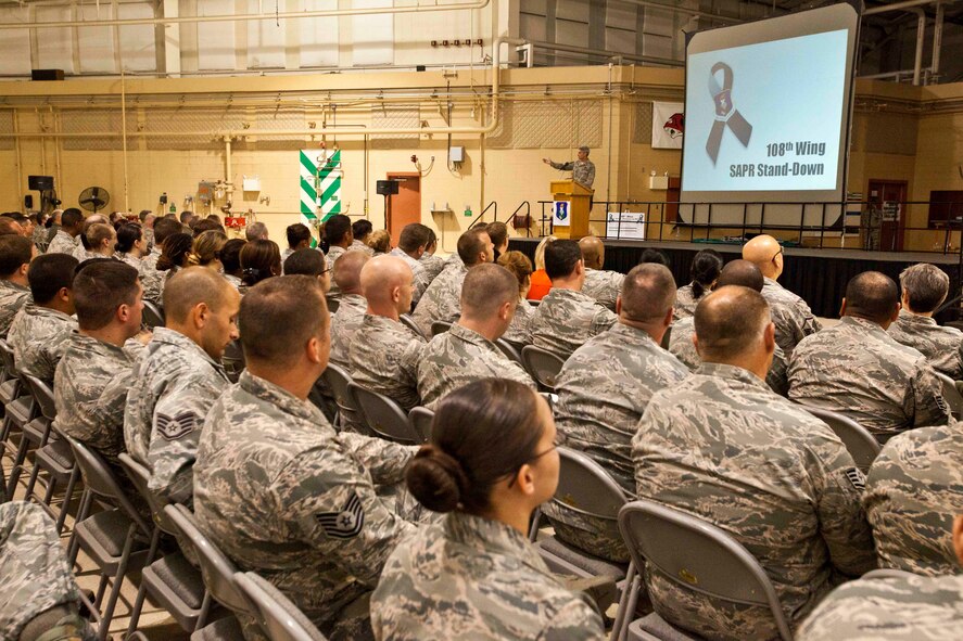
[[[382,641],[604,639],[601,617],[510,526],[453,512],[389,557],[371,597]]]

